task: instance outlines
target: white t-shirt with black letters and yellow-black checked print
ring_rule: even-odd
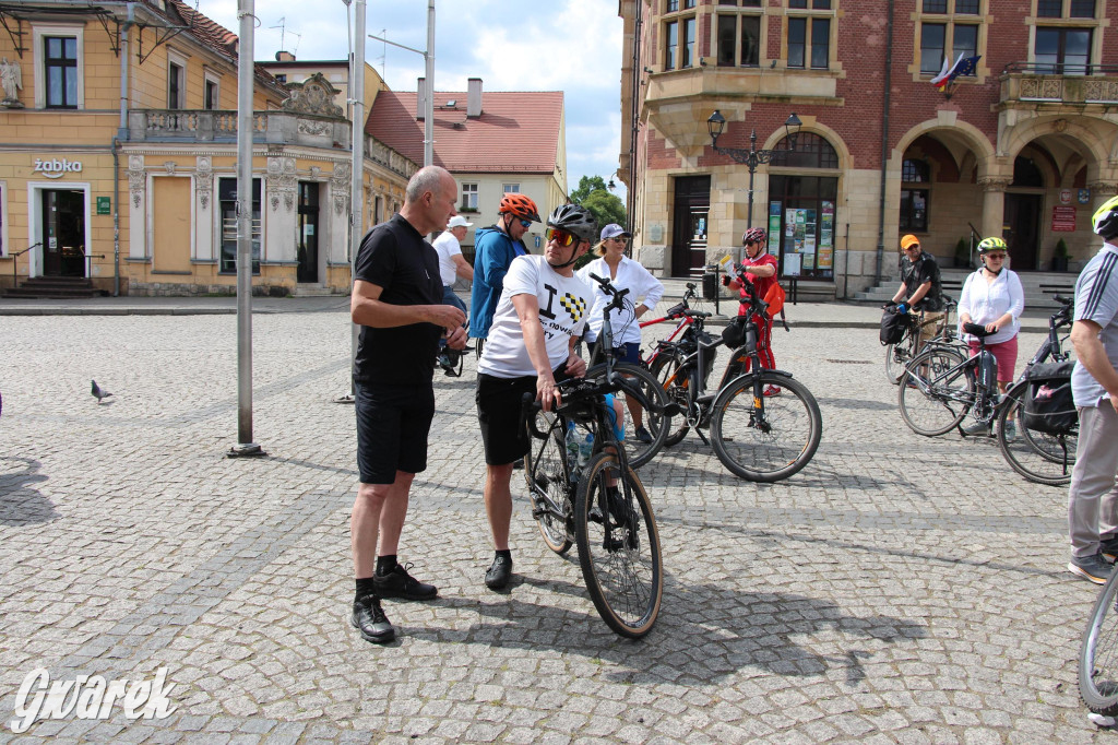
[[[536,295],[540,305],[540,326],[551,369],[570,356],[570,338],[582,333],[593,291],[577,276],[567,277],[556,272],[543,256],[517,256],[504,275],[504,291],[477,362],[479,372],[495,378],[536,376],[520,318],[512,304],[514,295],[523,294]]]

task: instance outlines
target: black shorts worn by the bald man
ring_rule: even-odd
[[[414,386],[353,383],[357,468],[361,483],[392,483],[396,472],[427,468],[427,434],[435,418],[435,390]]]

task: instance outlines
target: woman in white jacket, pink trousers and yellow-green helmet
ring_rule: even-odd
[[[959,329],[964,323],[985,326],[986,349],[997,360],[997,388],[1002,394],[1013,383],[1017,365],[1017,332],[1021,313],[1025,310],[1025,292],[1017,273],[1005,267],[1008,247],[1002,238],[985,238],[978,244],[980,270],[967,277],[959,295]],[[973,355],[978,353],[978,340],[968,333],[960,338],[968,342]],[[1012,424],[1012,423],[1011,423]],[[985,425],[964,427],[967,434],[977,434]],[[972,432],[975,430],[975,432]]]

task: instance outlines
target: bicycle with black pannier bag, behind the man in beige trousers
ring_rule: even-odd
[[[997,417],[997,446],[1010,466],[1036,483],[1052,487],[1071,481],[1071,470],[1076,464],[1076,446],[1079,442],[1078,427],[1067,433],[1042,432],[1026,426],[1021,416],[1027,392],[1029,371],[1034,365],[1049,360],[1063,362],[1070,355],[1063,351],[1060,329],[1072,323],[1074,300],[1061,295],[1053,298],[1061,308],[1049,317],[1049,336],[1040,349],[1025,365],[1017,380],[1006,392]],[[1015,426],[1007,426],[1015,423]],[[1011,430],[1013,432],[1011,432]],[[1015,435],[1015,436],[1014,436]]]

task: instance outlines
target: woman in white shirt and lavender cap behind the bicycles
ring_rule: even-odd
[[[629,234],[620,225],[610,223],[601,228],[601,241],[595,246],[595,252],[600,256],[581,270],[578,276],[588,285],[594,287],[594,308],[590,309],[590,317],[587,320],[586,340],[594,342],[598,338],[601,329],[601,311],[612,300],[597,282],[590,279],[590,274],[609,280],[615,287],[628,290],[629,294],[622,310],[610,311],[609,324],[614,330],[615,359],[620,362],[641,364],[641,324],[637,320],[654,308],[664,294],[664,285],[654,277],[648,270],[625,255],[625,245],[628,243]],[[633,424],[636,428],[634,435],[639,442],[652,442],[652,435],[644,427],[644,417],[641,404],[633,398],[626,398]]]

